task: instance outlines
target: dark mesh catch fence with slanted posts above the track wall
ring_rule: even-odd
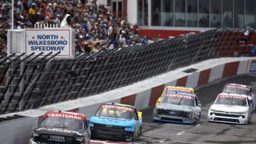
[[[41,59],[0,57],[0,113],[107,92],[215,57],[250,55],[255,43],[255,29],[220,28],[151,45],[79,53],[75,60],[50,54]]]

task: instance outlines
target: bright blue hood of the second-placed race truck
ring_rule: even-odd
[[[135,120],[127,120],[124,118],[111,118],[105,116],[92,116],[90,123],[99,123],[112,126],[134,126]]]

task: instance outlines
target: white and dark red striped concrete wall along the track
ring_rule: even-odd
[[[192,73],[183,72],[190,68],[197,70]],[[90,116],[97,111],[100,104],[105,102],[130,104],[136,106],[137,110],[141,110],[149,106],[154,106],[166,86],[196,88],[208,84],[208,82],[212,82],[215,79],[251,72],[256,72],[256,60],[253,60],[252,57],[206,60],[195,65],[182,67],[178,70],[151,77],[127,87],[114,89],[110,92],[44,106],[36,110],[19,112],[17,113],[18,115],[28,116],[28,118],[20,118],[18,120],[1,123],[0,143],[29,143],[31,131],[33,128],[36,128],[38,119],[41,118],[46,111],[74,111],[83,113],[87,118],[90,118]],[[14,114],[15,113],[9,113],[0,117]]]

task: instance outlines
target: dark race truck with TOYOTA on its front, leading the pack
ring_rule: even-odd
[[[83,114],[48,111],[31,134],[31,144],[90,143],[90,128]]]

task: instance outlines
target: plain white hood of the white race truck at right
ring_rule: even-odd
[[[223,111],[230,113],[245,113],[248,111],[246,106],[228,106],[223,104],[213,104],[210,106],[210,109],[213,111]]]

